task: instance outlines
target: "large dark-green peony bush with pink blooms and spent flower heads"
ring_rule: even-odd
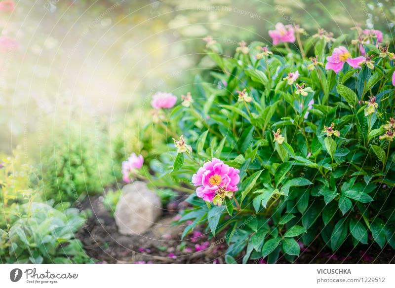
[[[273,45],[241,41],[234,57],[206,37],[216,69],[193,93],[155,94],[167,145],[144,165],[131,155],[125,179],[190,193],[182,237],[205,225],[227,262],[294,261],[313,242],[395,249],[394,53],[380,31],[354,31],[302,41],[279,23]]]

